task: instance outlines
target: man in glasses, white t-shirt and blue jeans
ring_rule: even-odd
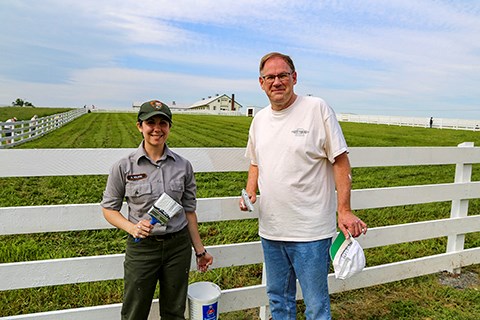
[[[252,121],[246,190],[259,199],[259,235],[274,320],[296,319],[296,279],[307,320],[330,319],[328,270],[338,227],[348,238],[367,225],[350,207],[348,148],[335,112],[322,99],[297,96],[292,59],[272,52],[260,61],[260,86],[270,105]],[[335,194],[335,190],[337,194]],[[247,210],[243,200],[240,209]],[[348,231],[347,231],[348,230]]]

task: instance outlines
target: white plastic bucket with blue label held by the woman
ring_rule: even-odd
[[[218,298],[222,291],[215,283],[200,281],[188,286],[190,320],[218,320]]]

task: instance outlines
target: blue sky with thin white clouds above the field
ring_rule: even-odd
[[[280,51],[337,113],[480,119],[480,1],[10,0],[0,28],[4,105],[263,107]]]

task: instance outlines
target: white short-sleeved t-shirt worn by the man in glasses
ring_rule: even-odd
[[[333,237],[332,163],[344,152],[335,112],[320,98],[298,96],[287,109],[257,112],[245,156],[259,171],[259,235],[281,241]]]

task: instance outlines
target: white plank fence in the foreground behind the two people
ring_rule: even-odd
[[[175,148],[190,159],[196,172],[246,171],[243,148]],[[67,176],[108,174],[113,162],[132,149],[0,150],[0,177]],[[363,248],[374,248],[418,240],[448,237],[445,253],[369,266],[359,275],[337,280],[329,275],[331,293],[389,283],[440,271],[459,272],[480,263],[480,247],[464,249],[467,233],[480,231],[480,215],[468,213],[470,199],[480,198],[480,182],[471,181],[472,164],[480,163],[480,148],[473,143],[459,147],[351,148],[352,167],[420,166],[455,164],[453,183],[392,188],[360,189],[352,192],[354,210],[451,201],[451,217],[371,228],[358,240]],[[125,206],[122,212],[126,212]],[[198,201],[199,222],[257,218],[241,212],[238,197],[205,198]],[[22,227],[17,228],[18,217]],[[78,219],[78,217],[82,217]],[[112,228],[99,204],[50,205],[0,208],[0,235],[31,234]],[[213,268],[263,262],[259,242],[207,247],[215,257]],[[0,290],[83,283],[123,278],[123,254],[76,257],[0,264]],[[194,261],[194,259],[193,259]],[[368,266],[368,261],[367,261]],[[192,270],[195,266],[192,264]],[[301,291],[298,299],[301,299]],[[265,285],[222,290],[220,313],[262,307],[268,304]],[[118,319],[121,304],[58,310],[2,319]],[[158,319],[158,301],[152,303],[149,319]]]

